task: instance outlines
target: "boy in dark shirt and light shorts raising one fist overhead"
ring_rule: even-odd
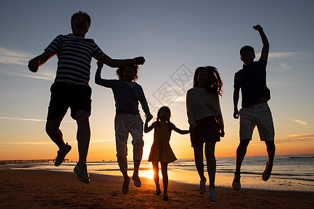
[[[244,46],[240,50],[243,69],[234,75],[234,118],[240,116],[240,144],[237,148],[237,164],[234,172],[233,189],[239,190],[241,164],[246,155],[248,144],[252,139],[255,126],[260,134],[260,140],[265,141],[267,146],[268,161],[262,174],[263,180],[268,180],[273,167],[275,144],[274,123],[271,111],[267,104],[270,100],[270,91],[266,84],[266,65],[269,54],[269,42],[260,25],[253,26],[262,38],[262,54],[259,61],[254,61],[255,52],[253,47]],[[242,108],[238,110],[239,91],[241,88]]]

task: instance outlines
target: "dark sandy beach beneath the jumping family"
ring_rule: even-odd
[[[75,173],[0,169],[0,208],[313,208],[313,192],[283,192],[216,187],[217,201],[208,201],[197,185],[170,181],[169,201],[154,194],[154,180],[141,178],[142,187],[130,182],[122,194],[121,176],[91,173],[91,183]]]

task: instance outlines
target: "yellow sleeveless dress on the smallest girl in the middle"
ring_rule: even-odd
[[[174,155],[172,148],[170,147],[170,136],[172,127],[174,126],[171,124],[171,129],[168,123],[163,121],[158,122],[155,121],[154,127],[154,142],[151,145],[151,152],[149,153],[149,162],[174,162],[177,160],[177,157]]]

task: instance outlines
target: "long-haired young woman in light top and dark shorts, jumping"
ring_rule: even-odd
[[[190,124],[190,141],[194,150],[195,166],[200,175],[200,194],[206,192],[204,177],[203,144],[209,176],[209,201],[216,201],[215,145],[225,135],[223,116],[218,96],[223,82],[216,68],[207,66],[195,70],[193,88],[186,94],[186,109]]]

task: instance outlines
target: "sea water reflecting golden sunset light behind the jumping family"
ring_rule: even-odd
[[[231,187],[235,169],[235,157],[217,157],[216,187]],[[275,189],[314,192],[314,154],[312,155],[276,155],[271,178],[267,182],[262,180],[262,172],[267,162],[267,156],[247,156],[241,167],[241,189]],[[70,171],[76,162],[64,162],[59,167],[50,163],[37,164],[6,164],[0,169],[45,169],[51,171]],[[204,159],[206,165],[206,160]],[[114,161],[88,162],[89,173],[99,173],[121,176],[119,166]],[[207,168],[204,167],[208,179]],[[133,162],[128,162],[128,174],[133,173]],[[140,177],[153,180],[151,162],[142,161]],[[162,178],[161,171],[159,176]],[[183,183],[198,184],[200,177],[195,168],[194,159],[179,159],[168,164],[169,180]],[[208,181],[207,181],[208,182]],[[196,185],[195,185],[196,187]]]

